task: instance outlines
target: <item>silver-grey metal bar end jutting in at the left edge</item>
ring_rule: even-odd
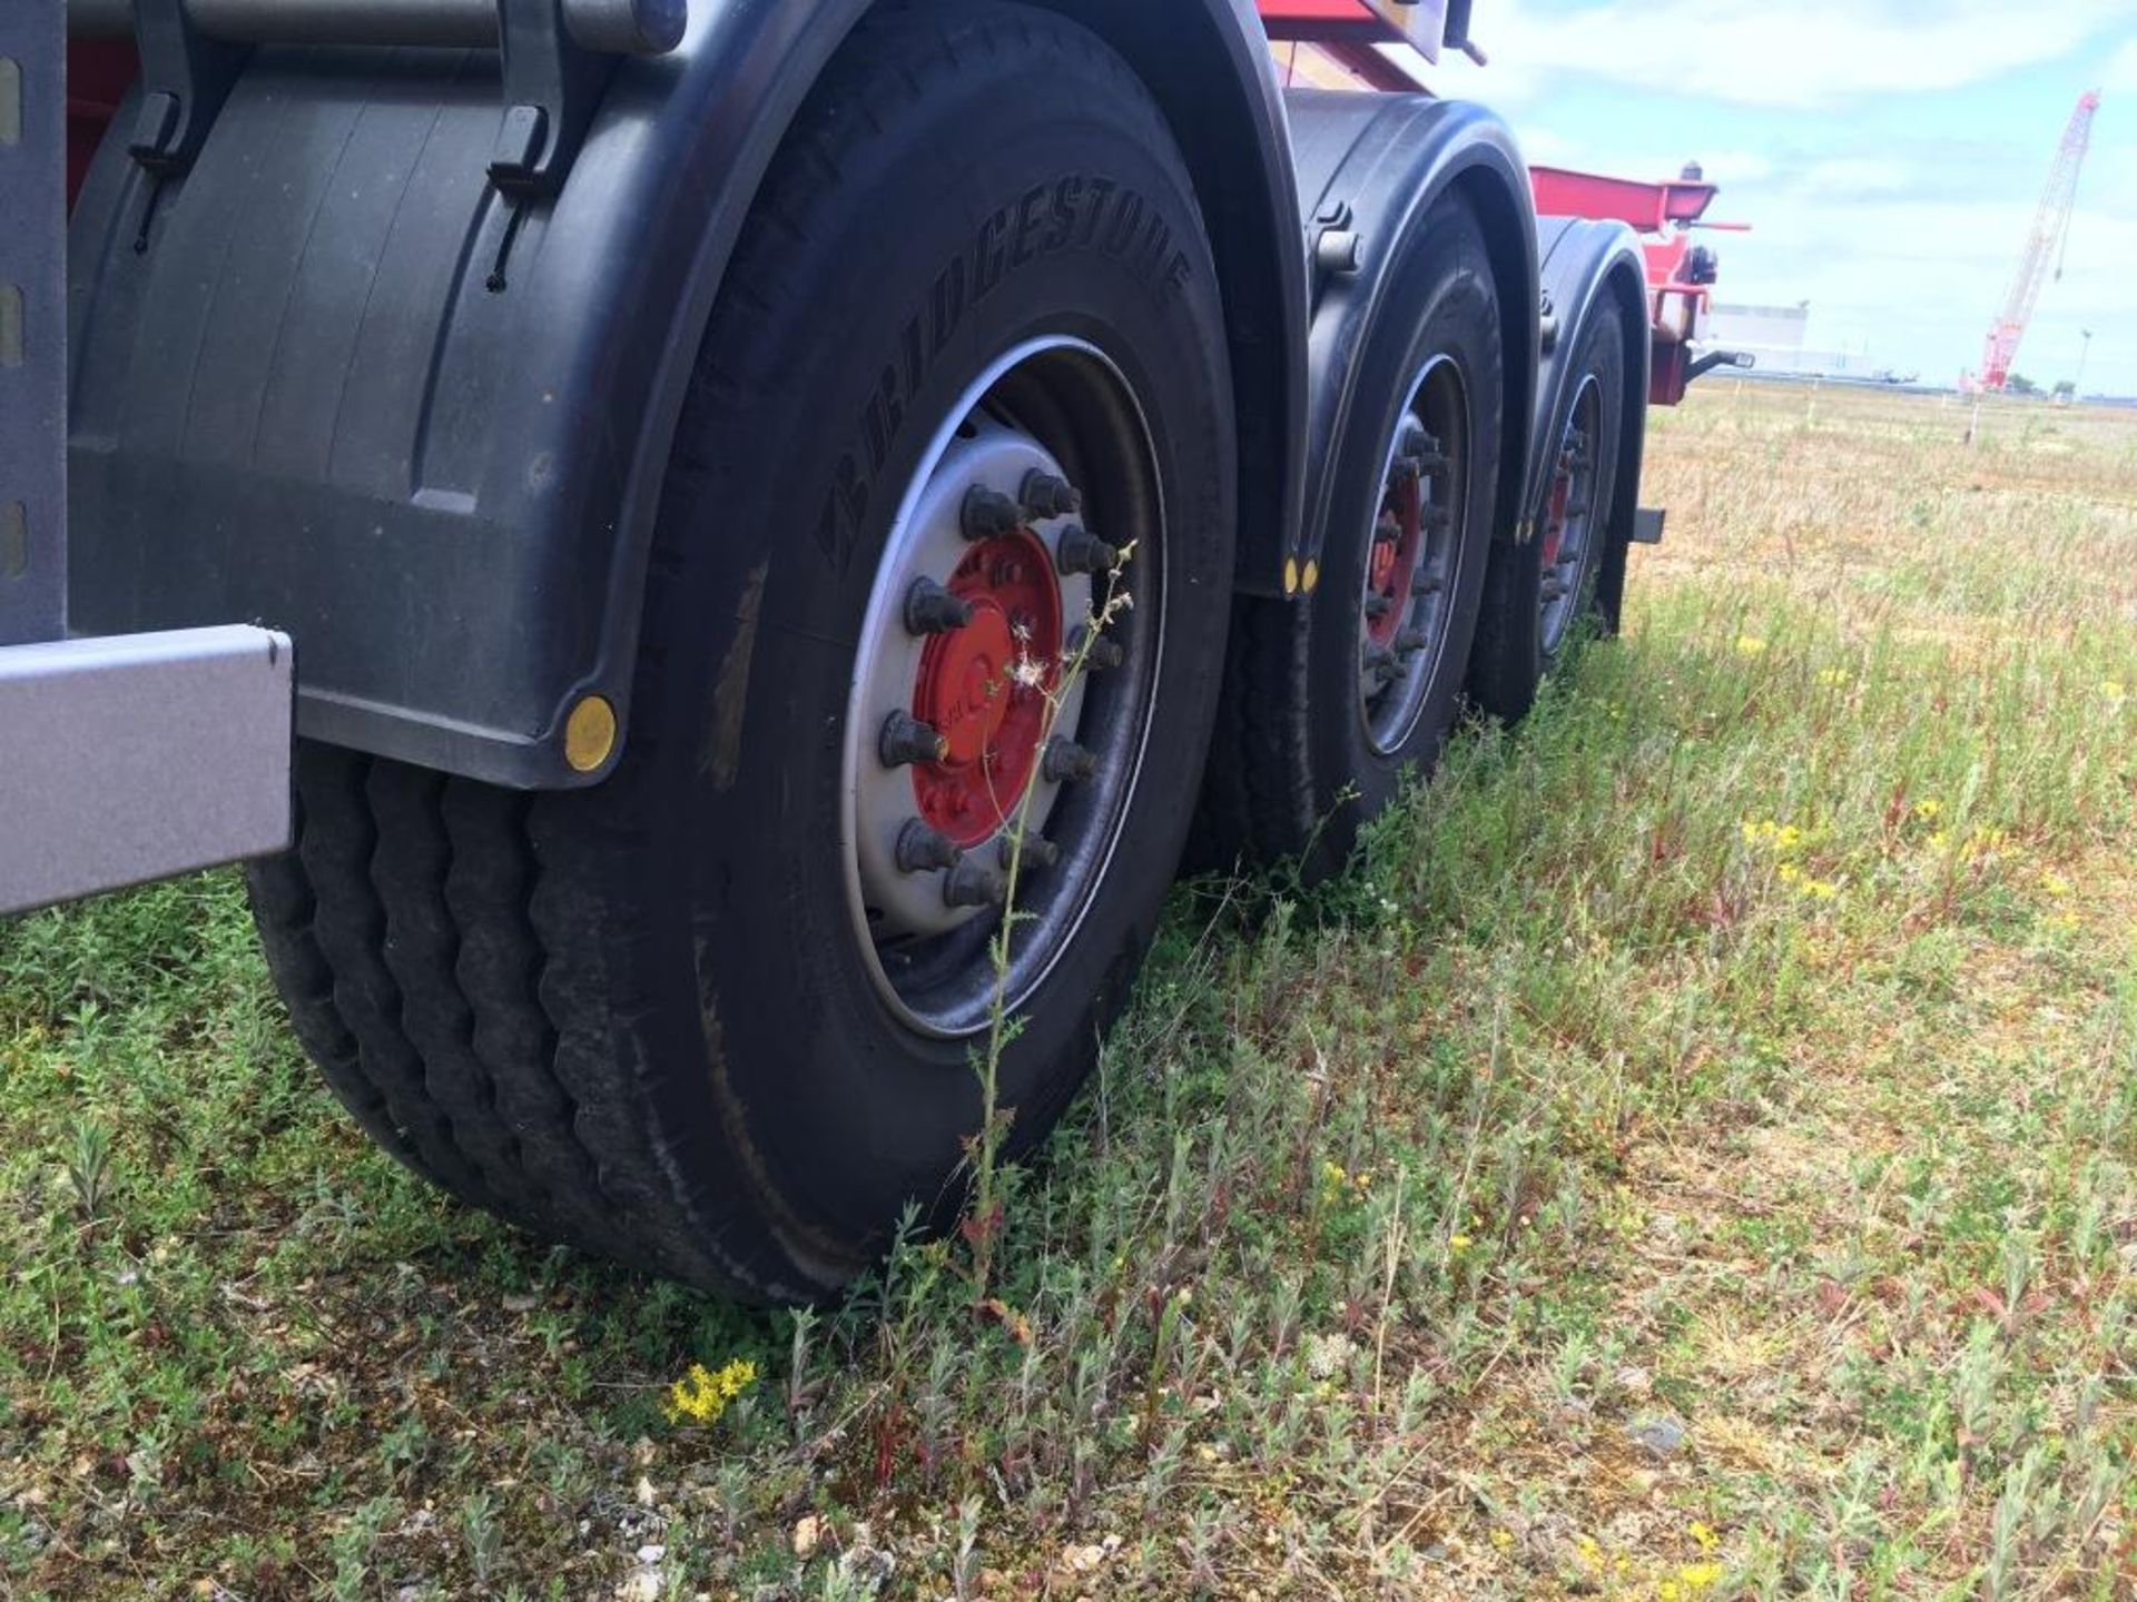
[[[0,914],[284,850],[291,669],[265,628],[0,649]]]

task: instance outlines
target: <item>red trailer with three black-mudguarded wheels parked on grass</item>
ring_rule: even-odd
[[[397,1158],[836,1292],[998,998],[1021,1151],[1184,850],[1338,869],[1660,532],[1712,188],[1468,13],[0,9],[0,910],[250,859]]]

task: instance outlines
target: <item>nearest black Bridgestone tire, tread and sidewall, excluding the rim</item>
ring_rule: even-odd
[[[1064,173],[1083,175],[1066,216]],[[966,265],[974,293],[938,316]],[[833,1294],[906,1203],[955,1203],[972,1038],[910,1027],[878,991],[840,763],[898,485],[1039,335],[1118,367],[1167,508],[1163,583],[1107,675],[1143,686],[1139,780],[1002,1064],[1011,1156],[1056,1121],[1128,995],[1201,775],[1231,376],[1192,186],[1143,85],[1060,17],[960,2],[870,17],[774,164],[677,436],[613,778],[515,797],[299,752],[301,839],[252,871],[254,910],[308,1051],[389,1151],[545,1237],[752,1301]],[[1141,651],[1160,632],[1163,658]]]

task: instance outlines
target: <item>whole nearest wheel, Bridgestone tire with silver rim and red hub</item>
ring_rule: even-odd
[[[519,797],[308,745],[252,893],[355,1115],[628,1265],[821,1299],[1126,1000],[1216,707],[1237,481],[1195,192],[1128,66],[1015,4],[865,21],[697,363],[630,745]],[[1113,583],[1133,609],[1064,681]],[[1028,812],[1026,812],[1028,803]]]

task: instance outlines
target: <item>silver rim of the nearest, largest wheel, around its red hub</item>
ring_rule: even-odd
[[[1060,438],[1041,438],[1036,427],[1021,425],[1011,391],[1043,395],[1032,410],[1043,412],[1049,436]],[[1088,427],[1079,431],[1077,419]],[[1071,466],[1086,478],[1079,481]],[[1141,404],[1094,344],[1075,337],[1021,344],[960,395],[900,500],[876,566],[846,703],[840,844],[855,940],[885,1006],[906,1027],[940,1040],[987,1027],[996,987],[992,948],[1002,914],[951,908],[942,871],[900,867],[898,839],[917,814],[915,780],[908,769],[883,760],[880,731],[891,713],[915,705],[925,645],[906,626],[912,583],[945,581],[972,549],[962,534],[962,511],[974,487],[1017,498],[1032,472],[1075,483],[1086,496],[1077,513],[1026,521],[1024,532],[1047,553],[1058,557],[1062,538],[1088,525],[1103,540],[1133,538],[1135,557],[1122,583],[1133,607],[1109,630],[1124,643],[1126,662],[1071,681],[1049,726],[1049,739],[1090,748],[1101,758],[1098,775],[1060,784],[1043,767],[1034,769],[1028,812],[1011,810],[1007,827],[964,850],[992,867],[1017,816],[1028,818],[1032,839],[1060,848],[1054,865],[1030,848],[1021,863],[1011,1010],[1045,983],[1111,869],[1141,780],[1163,669],[1165,508]],[[1103,600],[1105,577],[1064,575],[1056,562],[1056,583],[1058,628],[1066,641]]]

